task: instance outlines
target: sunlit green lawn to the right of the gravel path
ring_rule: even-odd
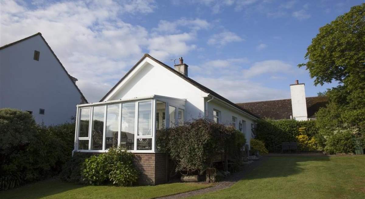
[[[231,188],[192,198],[365,198],[365,156],[268,157]]]

